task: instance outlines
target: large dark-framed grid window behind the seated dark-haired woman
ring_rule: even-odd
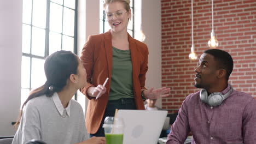
[[[44,59],[77,53],[77,0],[23,0],[21,104],[46,81]]]

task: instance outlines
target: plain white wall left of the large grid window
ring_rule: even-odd
[[[20,107],[22,1],[0,1],[0,21],[0,136],[7,136]]]

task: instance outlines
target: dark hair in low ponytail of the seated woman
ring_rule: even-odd
[[[44,73],[47,81],[43,86],[33,89],[28,98],[24,102],[20,110],[18,122],[14,126],[18,126],[22,117],[24,106],[33,98],[46,95],[52,97],[55,92],[62,91],[67,84],[67,79],[71,74],[77,74],[78,57],[71,51],[57,51],[48,56],[44,63]]]

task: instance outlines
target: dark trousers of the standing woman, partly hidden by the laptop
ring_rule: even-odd
[[[134,99],[131,98],[121,98],[118,100],[109,100],[106,110],[104,112],[103,118],[101,120],[100,128],[98,129],[97,133],[90,134],[90,137],[92,136],[105,136],[104,134],[104,128],[102,128],[102,125],[104,123],[104,119],[106,117],[114,117],[115,115],[115,109],[118,110],[136,110],[136,105]]]

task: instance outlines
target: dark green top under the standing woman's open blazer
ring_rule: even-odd
[[[113,66],[108,100],[134,98],[130,50],[113,47]]]

